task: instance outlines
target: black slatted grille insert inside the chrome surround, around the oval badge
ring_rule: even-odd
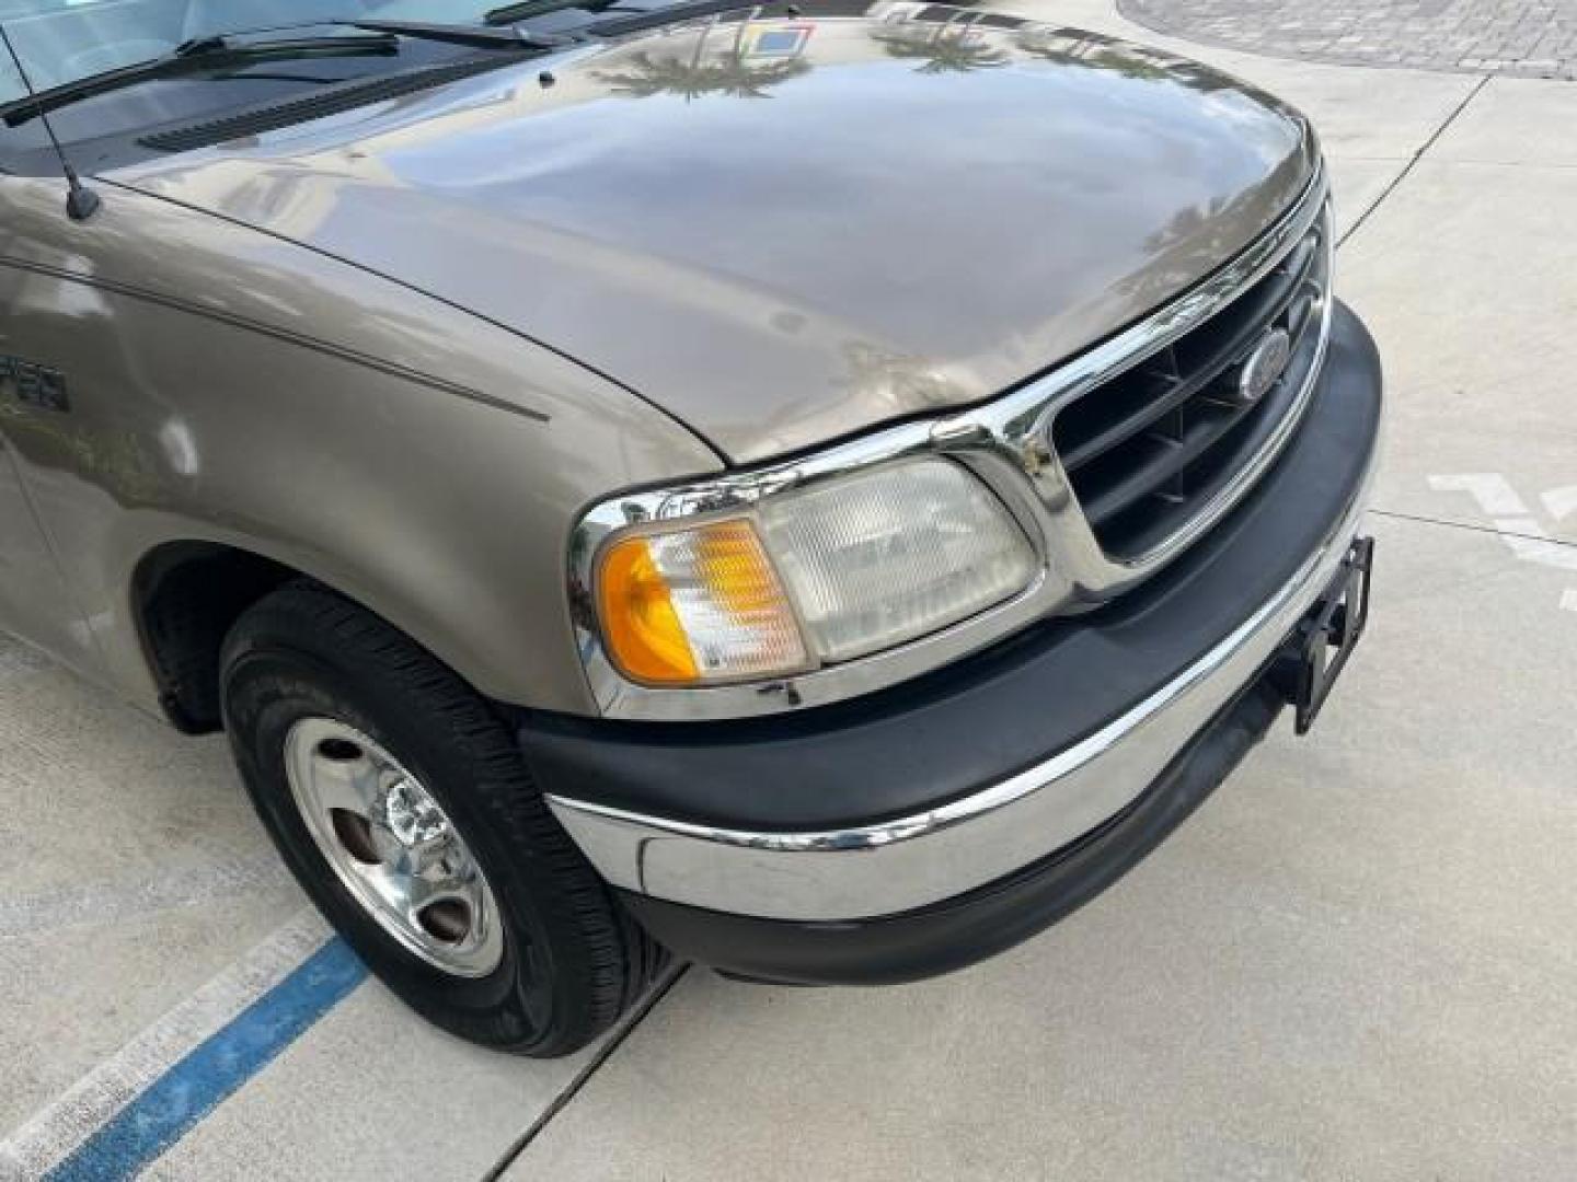
[[[1323,355],[1329,257],[1322,216],[1230,304],[1057,411],[1052,444],[1110,558],[1143,559],[1186,530],[1301,414]],[[1244,402],[1243,367],[1276,329],[1290,359]]]

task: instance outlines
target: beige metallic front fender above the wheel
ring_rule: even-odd
[[[342,591],[484,693],[591,709],[569,528],[612,489],[718,470],[699,438],[293,243],[121,191],[77,225],[54,197],[8,202],[0,306],[14,350],[63,370],[69,408],[6,422],[115,689],[156,700],[139,563],[200,541]]]

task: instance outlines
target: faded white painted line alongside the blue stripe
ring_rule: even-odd
[[[0,1141],[0,1179],[43,1177],[148,1084],[300,968],[328,936],[315,911],[300,913]]]

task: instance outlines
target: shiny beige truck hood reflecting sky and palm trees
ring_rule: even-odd
[[[751,462],[1077,353],[1315,161],[1203,66],[929,6],[669,25],[115,180],[470,309]]]

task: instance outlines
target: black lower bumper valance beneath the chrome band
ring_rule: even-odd
[[[1262,678],[1105,826],[1008,878],[916,911],[785,922],[618,894],[678,957],[730,976],[785,985],[896,985],[951,972],[1028,939],[1126,875],[1214,791],[1281,708],[1282,697]]]

